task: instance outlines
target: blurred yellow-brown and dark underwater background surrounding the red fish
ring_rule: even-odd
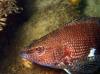
[[[100,17],[100,0],[80,0],[79,4],[71,3],[69,6],[68,1],[17,0],[23,11],[10,14],[7,25],[0,31],[0,74],[66,74],[63,70],[37,64],[28,66],[19,56],[19,51],[32,40],[41,38],[76,17]],[[94,74],[100,74],[100,71]]]

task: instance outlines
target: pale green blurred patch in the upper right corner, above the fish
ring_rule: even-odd
[[[87,0],[84,13],[91,17],[100,17],[100,0]]]

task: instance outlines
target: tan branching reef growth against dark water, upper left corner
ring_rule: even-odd
[[[18,12],[19,7],[15,0],[0,0],[0,31],[6,25],[7,16]]]

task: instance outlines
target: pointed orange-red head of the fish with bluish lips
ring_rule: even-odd
[[[54,66],[54,56],[51,48],[46,48],[44,46],[36,46],[31,49],[25,48],[24,51],[20,52],[20,56],[31,63],[49,67]]]

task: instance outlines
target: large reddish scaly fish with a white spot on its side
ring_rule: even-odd
[[[100,67],[100,19],[86,17],[66,23],[33,40],[20,51],[20,56],[67,74],[93,73]]]

